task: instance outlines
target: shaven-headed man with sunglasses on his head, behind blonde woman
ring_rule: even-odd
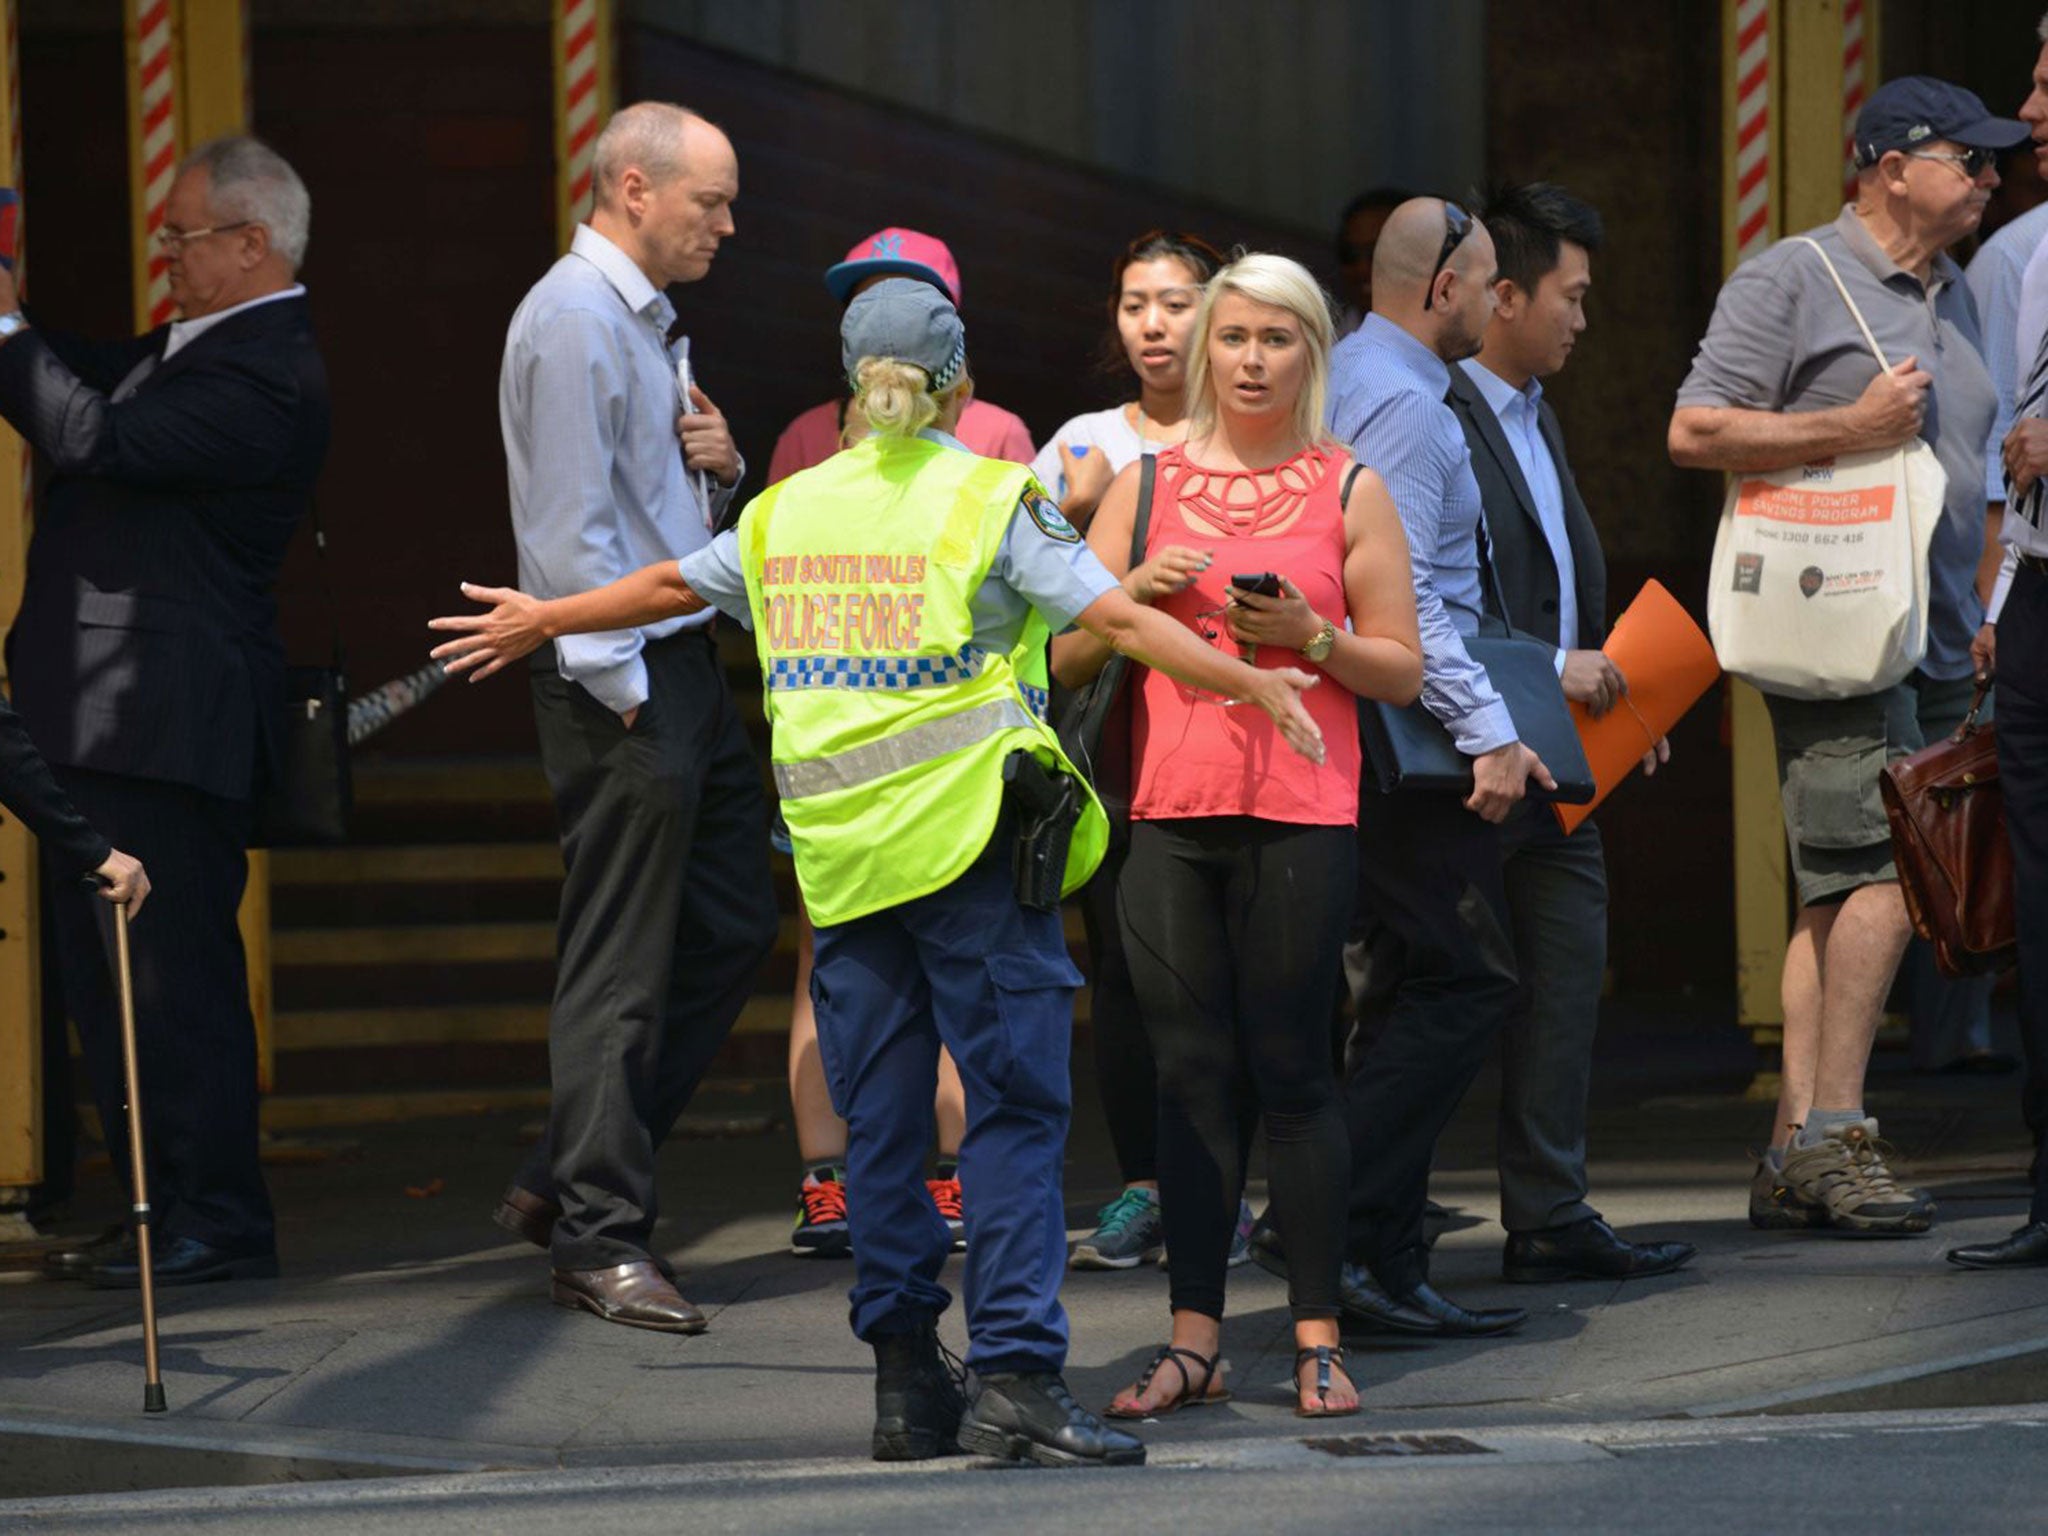
[[[1550,774],[1464,649],[1487,610],[1479,483],[1450,365],[1479,352],[1495,305],[1493,240],[1434,197],[1393,211],[1372,254],[1372,313],[1331,365],[1329,424],[1393,492],[1421,621],[1423,705],[1473,760],[1468,797],[1368,788],[1358,813],[1352,956],[1370,971],[1346,1090],[1352,1126],[1348,1300],[1360,1321],[1475,1335],[1522,1323],[1430,1286],[1423,1239],[1436,1139],[1516,1006],[1499,823]],[[1370,1012],[1370,1018],[1368,1018]],[[1376,1286],[1368,1282],[1378,1282]]]

